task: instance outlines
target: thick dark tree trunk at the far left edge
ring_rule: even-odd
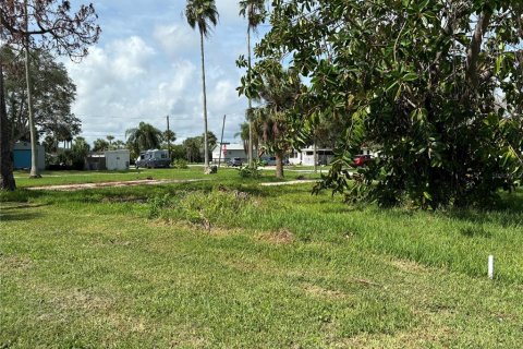
[[[16,189],[13,176],[10,135],[11,130],[8,123],[8,111],[3,89],[3,67],[0,61],[0,190],[5,191],[14,191]]]

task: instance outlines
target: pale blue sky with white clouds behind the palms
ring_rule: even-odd
[[[177,143],[202,134],[199,35],[182,16],[185,0],[93,2],[101,38],[81,63],[65,63],[77,85],[73,111],[82,135],[89,142],[108,134],[123,140],[139,121],[166,130],[168,115]],[[220,22],[205,43],[209,130],[219,137],[227,115],[224,139],[239,143],[233,135],[246,100],[235,91],[242,75],[235,60],[246,55],[246,24],[236,0],[216,3]]]

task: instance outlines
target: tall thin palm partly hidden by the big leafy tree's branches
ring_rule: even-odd
[[[247,19],[247,63],[248,72],[247,76],[251,77],[251,67],[252,67],[252,57],[251,57],[251,31],[256,31],[256,27],[265,21],[266,10],[265,10],[265,0],[241,0],[240,1],[240,15]],[[248,111],[247,116],[251,115],[253,109],[253,101],[251,97],[248,98]],[[248,166],[253,166],[253,121],[248,119]]]

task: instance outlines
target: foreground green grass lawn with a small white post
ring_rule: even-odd
[[[0,200],[0,347],[523,342],[521,191],[498,210],[423,213],[231,170]]]

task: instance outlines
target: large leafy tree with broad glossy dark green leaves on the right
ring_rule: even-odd
[[[499,189],[521,183],[521,1],[272,5],[258,58],[292,56],[289,69],[311,81],[299,104],[309,120],[346,118],[324,188],[436,208],[491,205]],[[352,176],[352,158],[368,143],[381,156]]]

